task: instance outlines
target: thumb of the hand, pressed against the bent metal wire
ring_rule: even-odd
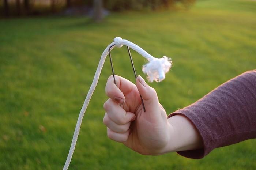
[[[140,92],[140,95],[142,96],[147,115],[156,118],[156,116],[158,116],[158,113],[160,115],[160,106],[157,92],[154,88],[148,86],[141,76],[137,77],[136,86],[138,91]]]

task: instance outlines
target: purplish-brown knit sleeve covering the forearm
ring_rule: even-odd
[[[177,152],[187,158],[200,159],[214,148],[256,138],[256,70],[229,80],[168,117],[178,114],[193,122],[203,140],[203,149]]]

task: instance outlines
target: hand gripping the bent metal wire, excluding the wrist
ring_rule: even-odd
[[[108,137],[144,155],[158,155],[166,151],[172,126],[166,112],[158,102],[154,88],[141,76],[136,85],[120,76],[113,76],[106,83],[109,99],[104,103],[103,118]],[[144,112],[140,95],[146,108]]]

